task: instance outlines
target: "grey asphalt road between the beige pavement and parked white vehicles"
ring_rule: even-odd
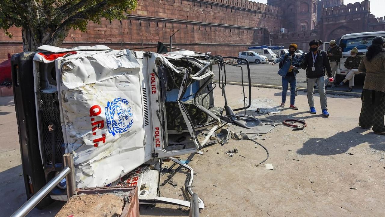
[[[226,78],[227,81],[231,82],[241,82],[241,68],[244,71],[244,81],[247,83],[247,66],[246,64],[241,64],[238,66],[229,66],[226,65]],[[214,66],[213,71],[215,73],[214,80],[218,80],[218,66]],[[277,74],[278,64],[271,66],[269,64],[250,64],[250,75],[251,83],[257,85],[271,85],[277,86],[278,88],[282,86],[281,76]],[[306,74],[305,70],[300,70],[300,73],[297,75],[297,86],[298,88],[306,88]],[[353,90],[355,93],[361,93],[363,86],[363,76],[358,76],[356,79],[356,86]],[[337,94],[348,94],[346,90],[348,86],[343,87],[336,86],[333,88],[328,88],[328,93],[337,93]]]

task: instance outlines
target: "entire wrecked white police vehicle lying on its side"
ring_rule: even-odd
[[[137,185],[140,202],[188,207],[189,201],[159,195],[162,159],[190,171],[186,191],[192,195],[192,168],[172,156],[199,151],[226,124],[223,107],[214,106],[214,63],[226,64],[192,51],[102,45],[41,46],[15,54],[12,81],[27,198],[62,170],[63,154],[72,153],[77,188]],[[199,137],[201,129],[209,132]],[[65,189],[64,179],[37,207],[67,200]]]

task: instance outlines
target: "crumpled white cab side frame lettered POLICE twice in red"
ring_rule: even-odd
[[[195,55],[196,57],[196,55]],[[150,105],[151,105],[151,115],[152,115],[152,127],[154,129],[154,150],[155,156],[157,158],[166,158],[171,156],[177,156],[182,154],[190,154],[198,151],[204,145],[204,141],[209,139],[211,135],[214,133],[216,127],[218,125],[214,125],[208,135],[205,137],[203,142],[198,141],[197,134],[194,129],[194,124],[192,122],[192,118],[189,115],[189,112],[186,108],[186,105],[183,103],[183,98],[186,97],[187,90],[192,90],[192,83],[199,84],[200,81],[209,82],[214,77],[214,73],[211,69],[212,62],[211,61],[202,61],[198,58],[195,58],[194,55],[180,55],[180,54],[157,54],[151,53],[151,55],[147,55],[147,62],[149,68],[149,73],[152,76],[150,79],[150,85],[154,86],[154,90],[159,90],[156,92],[152,92],[150,96]],[[198,72],[194,72],[187,70],[186,68],[179,67],[177,65],[183,65],[182,62],[187,61],[188,63],[199,68]],[[172,62],[172,63],[171,63]],[[162,88],[162,81],[165,81],[168,76],[173,75],[175,77],[176,74],[183,74],[183,78],[180,82],[180,86],[173,86],[171,90]],[[156,76],[157,75],[157,76]],[[159,77],[158,77],[159,76]],[[188,84],[187,79],[191,79],[191,84]],[[163,85],[165,86],[165,85]],[[205,86],[205,85],[204,85]],[[172,92],[177,91],[177,96],[175,99],[170,100],[173,97],[166,98],[167,95],[172,94]],[[158,93],[159,92],[159,93]],[[169,100],[169,101],[167,101]],[[169,135],[167,129],[167,115],[168,112],[171,112],[166,109],[166,103],[172,102],[173,105],[176,105],[174,112],[179,110],[184,123],[186,123],[188,132],[192,138],[192,145],[181,147],[181,149],[170,149],[169,145]],[[170,105],[170,104],[169,104]],[[196,104],[195,104],[196,105]],[[196,105],[202,112],[205,112],[211,117],[211,112]],[[179,112],[177,112],[179,114]],[[217,122],[220,122],[219,117],[215,119]],[[215,127],[215,128],[214,128]],[[207,140],[206,140],[207,141]]]

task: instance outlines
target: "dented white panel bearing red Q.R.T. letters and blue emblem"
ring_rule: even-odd
[[[145,162],[139,72],[129,50],[62,63],[58,89],[78,188],[105,186]]]

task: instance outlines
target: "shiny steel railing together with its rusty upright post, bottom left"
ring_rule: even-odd
[[[24,217],[26,216],[62,179],[67,181],[67,197],[70,198],[74,195],[76,190],[75,182],[75,167],[74,157],[72,154],[64,154],[64,169],[60,171],[52,180],[50,180],[43,188],[35,193],[27,202],[25,202],[16,212],[10,217]]]

